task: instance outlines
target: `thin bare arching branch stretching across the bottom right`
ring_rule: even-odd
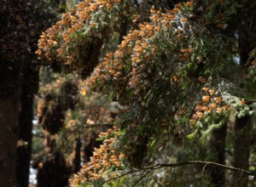
[[[106,180],[106,182],[108,182],[110,180],[113,180],[113,179],[116,179],[116,178],[124,177],[125,175],[131,174],[131,173],[137,173],[137,172],[140,172],[140,171],[143,171],[143,170],[156,170],[156,169],[159,169],[161,167],[183,167],[183,166],[187,166],[187,165],[202,165],[202,167],[204,167],[204,168],[207,167],[207,166],[222,167],[224,169],[231,170],[231,171],[234,171],[234,172],[246,173],[247,175],[253,175],[254,174],[250,171],[247,171],[247,170],[244,170],[244,169],[241,169],[241,168],[229,167],[229,166],[219,164],[219,163],[216,163],[216,162],[211,162],[211,161],[187,161],[187,162],[173,163],[173,164],[166,164],[166,163],[155,164],[155,165],[148,166],[148,167],[134,169],[134,170],[131,170],[129,172],[120,174],[117,177],[109,178],[108,180]]]

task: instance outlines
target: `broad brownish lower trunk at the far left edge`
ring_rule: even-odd
[[[18,104],[19,99],[12,97],[0,100],[0,184],[4,187],[13,187],[16,184]]]

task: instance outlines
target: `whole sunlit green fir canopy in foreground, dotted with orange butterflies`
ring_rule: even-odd
[[[90,88],[124,106],[71,183],[103,184],[119,176],[114,171],[160,161],[170,142],[188,149],[189,159],[210,161],[211,150],[200,150],[209,133],[230,116],[253,113],[255,7],[253,0],[86,0],[43,32],[40,58],[82,77],[93,72]],[[124,18],[130,31],[99,62],[104,40],[119,33]],[[243,37],[250,42],[241,48]]]

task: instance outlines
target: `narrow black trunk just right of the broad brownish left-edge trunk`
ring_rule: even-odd
[[[27,187],[32,154],[33,96],[38,89],[38,71],[27,67],[20,95],[19,142],[16,175],[20,187]]]

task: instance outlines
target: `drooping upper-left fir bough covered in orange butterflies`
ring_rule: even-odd
[[[64,61],[64,71],[87,77],[98,64],[103,39],[118,27],[119,6],[119,0],[79,3],[43,32],[36,54],[43,59]]]

